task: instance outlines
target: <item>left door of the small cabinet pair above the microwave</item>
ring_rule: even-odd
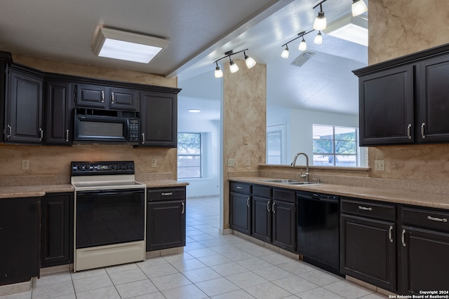
[[[106,94],[106,87],[89,84],[75,85],[75,105],[77,107],[108,108],[109,99]]]

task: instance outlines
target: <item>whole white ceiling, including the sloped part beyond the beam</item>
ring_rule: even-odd
[[[317,3],[315,0],[0,0],[0,50],[178,76],[178,85],[183,88],[180,106],[187,107],[220,101],[222,79],[214,78],[213,62],[228,50],[248,48],[248,55],[267,64],[268,105],[357,113],[357,81],[351,70],[366,66],[365,46],[326,34],[322,45],[314,45],[313,32],[305,39],[307,50],[316,55],[304,66],[290,65],[300,55],[299,41],[289,44],[290,58],[280,57],[283,43],[298,32],[311,29],[319,11],[312,7]],[[351,3],[351,0],[326,1],[323,11],[328,22],[349,12]],[[159,36],[170,43],[149,64],[96,57],[91,44],[101,26]],[[205,106],[219,107],[220,103]],[[183,111],[180,109],[180,113]],[[217,112],[214,113],[216,118]]]

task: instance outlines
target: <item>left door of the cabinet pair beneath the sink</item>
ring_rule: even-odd
[[[253,237],[272,242],[272,200],[253,196]]]

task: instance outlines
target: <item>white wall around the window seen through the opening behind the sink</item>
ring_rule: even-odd
[[[358,116],[267,107],[267,126],[279,123],[286,123],[287,164],[290,164],[293,161],[295,153],[304,152],[309,157],[312,156],[312,125],[358,127]],[[299,160],[298,163],[299,165],[305,165],[305,161],[302,160]]]

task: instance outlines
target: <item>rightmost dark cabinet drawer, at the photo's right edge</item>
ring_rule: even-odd
[[[449,212],[431,209],[401,209],[402,223],[449,232]]]

